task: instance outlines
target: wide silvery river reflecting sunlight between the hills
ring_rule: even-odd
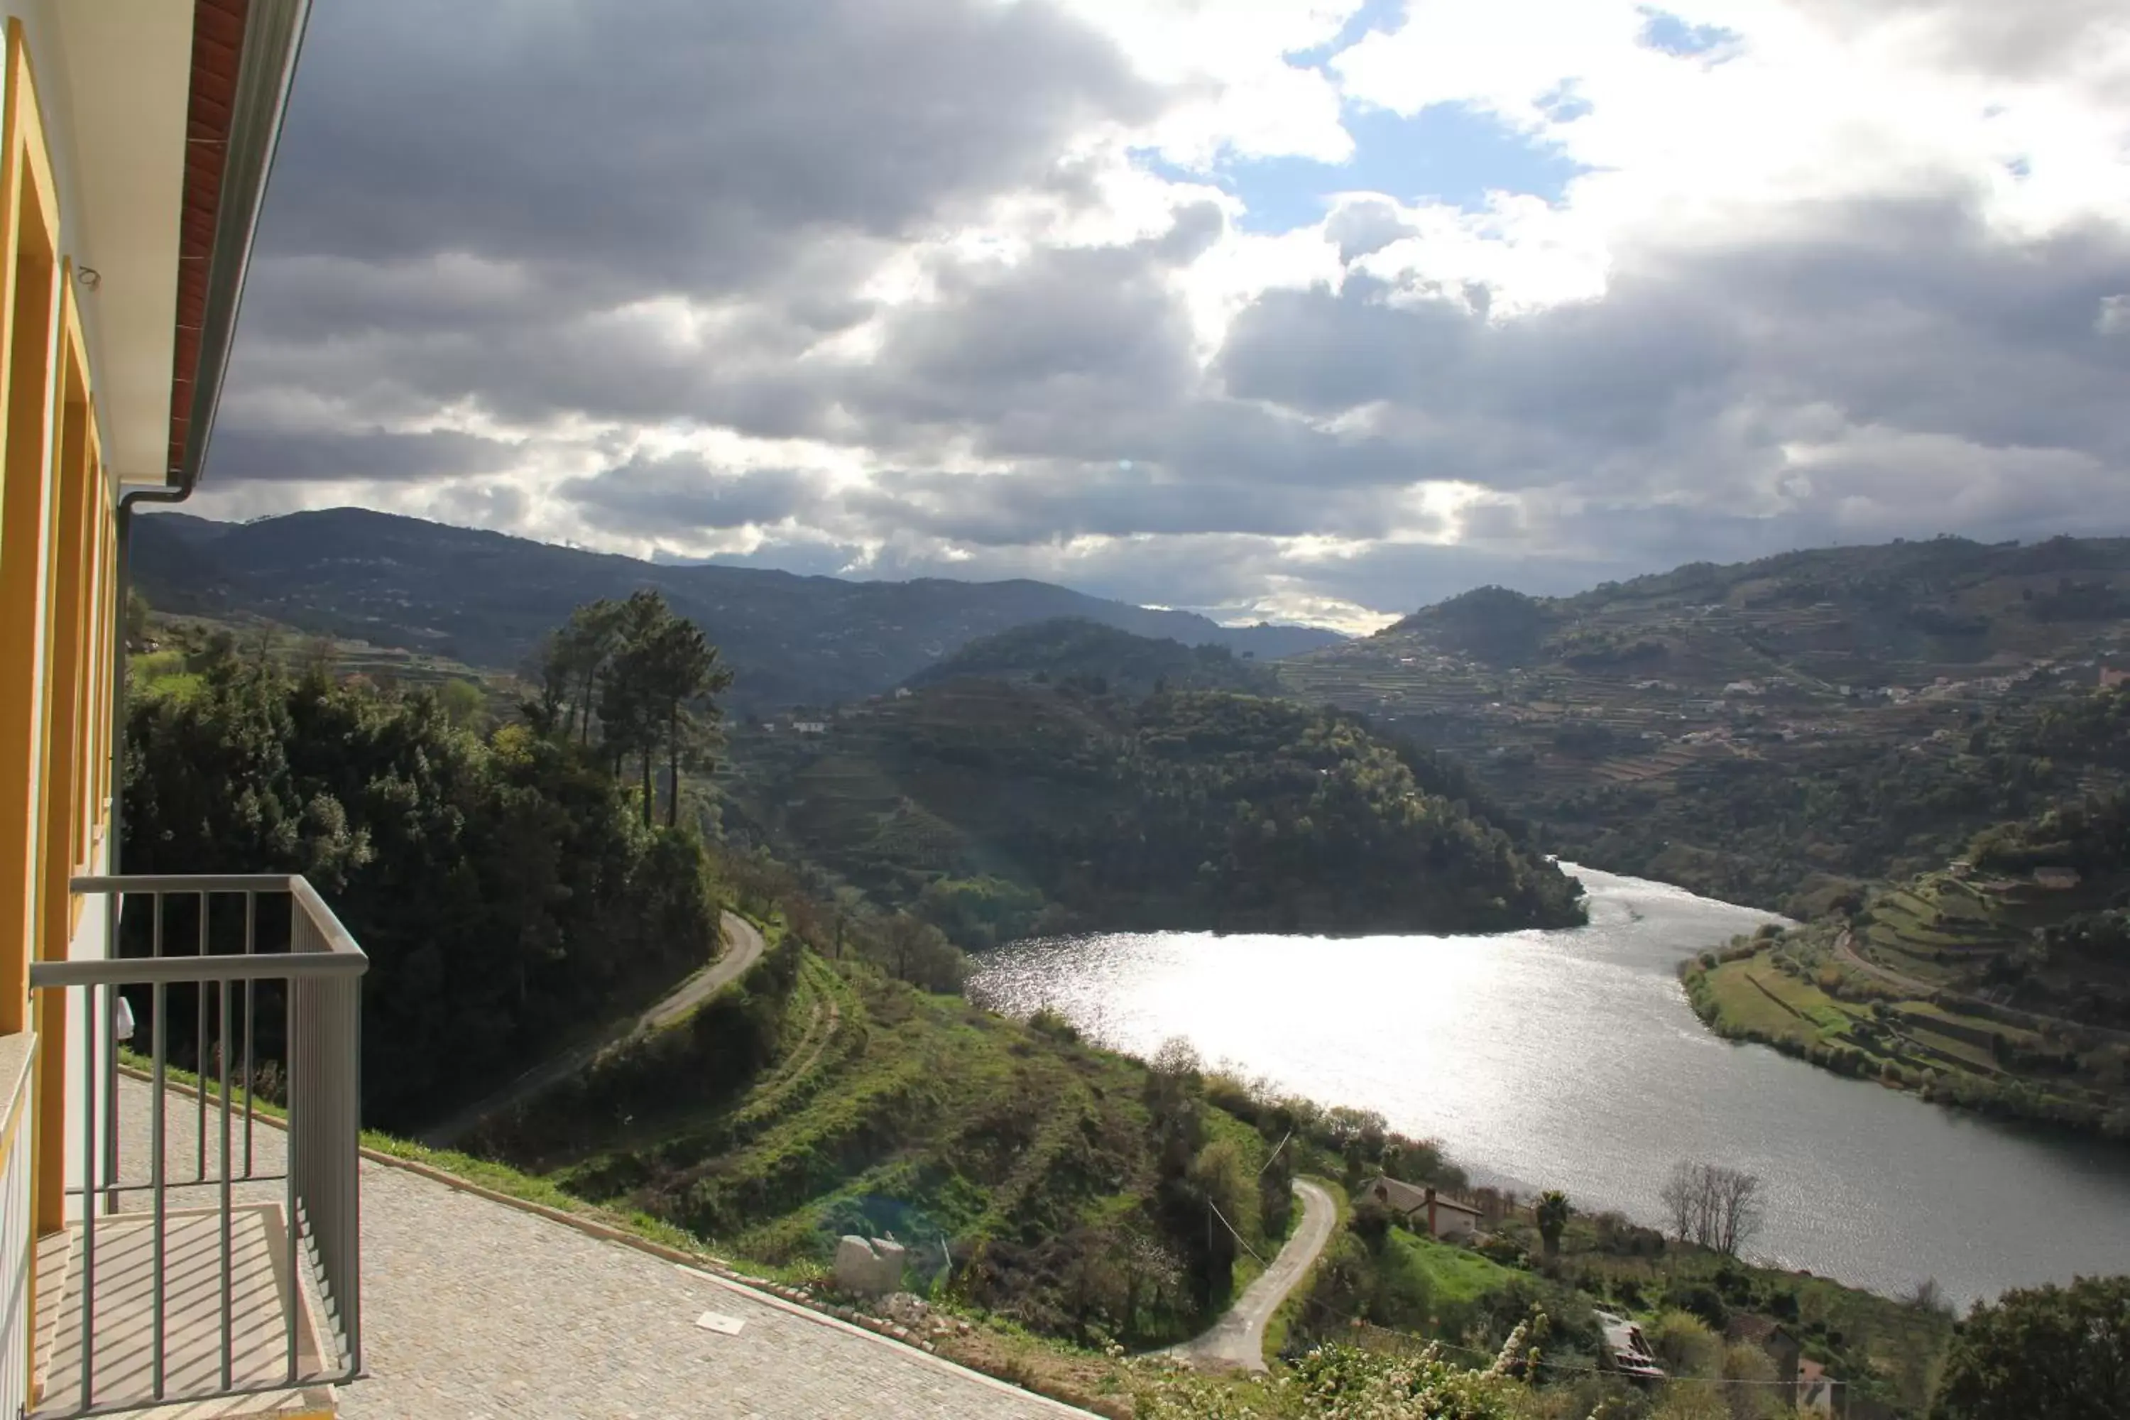
[[[1589,926],[1491,937],[1110,932],[978,958],[969,994],[1152,1052],[1186,1037],[1327,1105],[1433,1137],[1474,1182],[1661,1222],[1681,1158],[1762,1175],[1751,1254],[1949,1297],[2130,1273],[2130,1147],[1842,1079],[1695,1020],[1678,960],[1768,913],[1570,869]]]

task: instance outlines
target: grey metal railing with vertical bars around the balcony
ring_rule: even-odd
[[[79,992],[68,1018],[79,1020],[83,1064],[81,1182],[68,1188],[81,1203],[79,1294],[81,1392],[75,1414],[141,1401],[202,1401],[247,1390],[345,1382],[362,1373],[362,1205],[360,1205],[360,992],[368,958],[309,881],[294,875],[232,877],[77,877],[77,896],[109,896],[106,958],[34,962],[32,990]],[[149,909],[143,922],[128,905]],[[285,907],[283,907],[285,905]],[[241,911],[239,911],[241,907]],[[187,924],[185,918],[192,918]],[[285,926],[283,926],[285,915]],[[166,930],[170,920],[179,932]],[[190,926],[192,930],[183,930]],[[185,939],[183,947],[177,937]],[[121,945],[134,956],[121,956]],[[138,950],[145,947],[147,956]],[[192,1001],[187,1001],[187,996]],[[185,1007],[192,1007],[190,1011]],[[126,1022],[145,1013],[147,1160],[126,1158],[119,1128],[119,1039]],[[190,1018],[190,1020],[187,1020]],[[190,1037],[185,1026],[190,1024]],[[72,1035],[72,1030],[70,1030]],[[173,1035],[177,1037],[173,1041]],[[196,1086],[173,1084],[173,1045],[190,1060]],[[273,1120],[281,1096],[285,1122]],[[262,1116],[260,1103],[268,1103]],[[185,1128],[192,1113],[192,1128]],[[275,1171],[258,1147],[266,1128],[283,1133],[285,1169]],[[173,1133],[179,1152],[192,1135],[192,1169],[170,1167]],[[219,1162],[219,1167],[215,1167]],[[130,1167],[128,1167],[130,1165]],[[279,1184],[279,1188],[273,1188]],[[204,1190],[219,1237],[219,1384],[166,1373],[173,1322],[198,1339],[202,1318],[170,1316],[173,1188]],[[239,1188],[281,1207],[285,1226],[271,1245],[281,1279],[277,1294],[285,1326],[285,1365],[277,1375],[236,1367],[236,1218]],[[132,1220],[121,1209],[132,1194],[147,1194],[151,1228],[147,1397],[104,1394],[98,1388],[98,1224]],[[275,1196],[279,1194],[279,1196]],[[320,1331],[328,1352],[305,1365],[305,1271],[315,1282]],[[121,1279],[138,1286],[136,1279]],[[213,1284],[209,1284],[213,1290]],[[72,1290],[72,1288],[70,1288]],[[196,1303],[194,1303],[196,1305]],[[213,1303],[209,1303],[211,1309]],[[128,1341],[130,1348],[130,1341]]]

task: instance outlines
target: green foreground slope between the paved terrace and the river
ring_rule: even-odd
[[[748,1035],[741,1018],[765,1022],[769,1050],[735,1071],[726,1043]],[[1014,1333],[1135,1352],[1193,1335],[1293,1224],[1297,1173],[1346,1192],[1384,1169],[1459,1194],[1468,1182],[1376,1116],[1206,1073],[1180,1050],[1118,1056],[1054,1018],[997,1018],[801,952],[790,935],[737,992],[494,1122],[479,1147],[554,1199],[656,1220],[801,1284],[824,1282],[843,1233],[903,1239],[907,1286],[980,1322],[946,1335],[946,1352],[993,1367]],[[1233,1235],[1206,1228],[1208,1201]],[[1717,1328],[1781,1320],[1894,1414],[1919,1411],[1951,1333],[1943,1311],[1661,1239],[1617,1213],[1572,1216],[1557,1260],[1527,1207],[1474,1245],[1416,1237],[1370,1207],[1342,1207],[1342,1220],[1282,1309],[1284,1352],[1267,1352],[1299,1363],[1327,1341],[1440,1341],[1485,1360],[1536,1309],[1557,1367],[1538,1394],[1580,1407],[1534,1420],[1591,1414],[1606,1394],[1627,1403],[1619,1382],[1578,1380],[1598,1360],[1600,1307],[1674,1318],[1674,1331],[1681,1309]],[[1025,1384],[1069,1377],[1074,1399],[1120,1390],[1088,1350],[1010,1354],[1005,1373]],[[1681,1367],[1717,1373],[1704,1358]]]

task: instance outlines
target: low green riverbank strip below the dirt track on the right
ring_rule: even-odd
[[[1906,984],[1857,960],[1842,928],[1734,941],[1681,964],[1693,1013],[1851,1079],[2002,1120],[2130,1139],[2130,1050]]]

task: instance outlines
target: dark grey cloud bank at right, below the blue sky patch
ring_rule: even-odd
[[[1644,249],[1602,300],[1506,321],[1374,281],[1267,294],[1220,373],[1321,417],[1387,404],[1414,464],[1491,488],[1753,479],[1830,415],[2124,468],[2130,343],[2096,330],[2124,270],[2119,228],[2011,245],[1960,196],[1879,200],[1751,245]]]

